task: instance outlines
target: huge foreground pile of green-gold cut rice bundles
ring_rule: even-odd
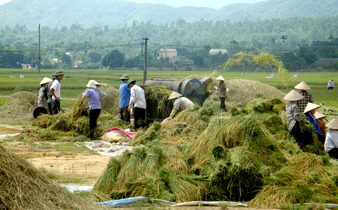
[[[110,160],[94,189],[113,199],[250,201],[259,208],[336,203],[327,154],[311,125],[302,127],[312,142],[305,152],[287,131],[285,103],[278,98],[256,99],[231,114],[213,115],[196,105],[138,132],[135,147]]]

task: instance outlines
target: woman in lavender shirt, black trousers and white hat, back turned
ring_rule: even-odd
[[[86,107],[86,110],[89,109],[89,137],[92,140],[97,139],[97,118],[101,113],[101,102],[100,96],[95,91],[95,81],[89,80],[87,85],[88,90],[85,92],[85,95],[81,98],[81,103],[83,104],[83,100],[88,98],[89,100],[89,107]]]

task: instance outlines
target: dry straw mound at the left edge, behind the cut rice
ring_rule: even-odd
[[[29,108],[32,106],[31,101],[37,101],[34,93],[20,91],[13,93],[8,100],[0,107],[1,123],[27,123],[33,119],[29,114]]]

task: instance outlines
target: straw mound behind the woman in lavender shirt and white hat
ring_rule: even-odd
[[[116,88],[113,88],[107,83],[100,83],[102,91],[107,93],[107,97],[101,100],[102,112],[108,112],[111,115],[118,115],[120,113],[120,91]],[[83,91],[85,93],[88,89]],[[81,99],[82,93],[78,95],[78,99]],[[88,105],[88,100],[85,100],[85,103]]]

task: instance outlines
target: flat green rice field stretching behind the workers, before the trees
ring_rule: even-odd
[[[23,69],[0,69],[0,95],[10,95],[12,91],[20,85],[26,85],[31,88],[36,94],[40,86],[38,83],[45,77],[51,77],[55,70],[23,70]],[[135,79],[138,85],[143,83],[143,71],[110,71],[110,70],[64,70],[65,76],[61,85],[62,98],[77,98],[77,96],[86,89],[89,80],[95,79],[101,83],[108,83],[114,88],[119,88],[121,81],[119,78],[123,74],[128,74],[131,78]],[[338,107],[338,87],[332,91],[327,90],[327,83],[330,79],[335,80],[336,73],[297,73],[298,77],[293,77],[294,73],[289,73],[292,77],[289,85],[285,88],[277,73],[274,73],[274,78],[266,78],[270,73],[262,72],[245,72],[241,75],[240,72],[192,72],[192,71],[147,71],[147,79],[153,77],[167,77],[170,78],[171,74],[174,78],[184,78],[188,75],[197,74],[212,76],[216,78],[222,75],[225,79],[250,79],[260,81],[267,85],[276,87],[277,89],[287,93],[295,85],[301,81],[305,81],[310,87],[309,91],[313,95],[314,103],[325,103],[330,107]],[[9,77],[14,75],[14,78]],[[24,75],[24,78],[20,78]],[[338,84],[338,83],[337,83]],[[0,99],[0,105],[6,99]],[[63,100],[61,106],[71,107],[72,101]]]

